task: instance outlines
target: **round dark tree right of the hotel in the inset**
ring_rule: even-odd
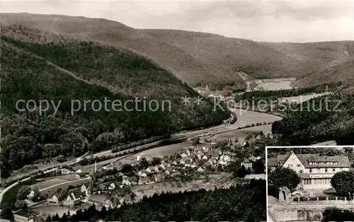
[[[344,197],[353,197],[354,173],[348,171],[338,172],[331,178],[331,185],[337,194]]]

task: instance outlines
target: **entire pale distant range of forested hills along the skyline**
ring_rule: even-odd
[[[256,78],[314,75],[298,86],[326,83],[321,74],[346,66],[353,59],[354,42],[270,43],[254,42],[210,33],[183,30],[138,30],[116,21],[82,16],[1,13],[2,25],[20,23],[65,37],[97,40],[105,45],[127,47],[153,59],[190,86],[221,90],[244,90],[246,83],[236,73]],[[346,70],[345,67],[343,67]],[[349,69],[348,69],[349,70]],[[341,71],[340,71],[341,72]],[[347,76],[348,77],[348,76]]]

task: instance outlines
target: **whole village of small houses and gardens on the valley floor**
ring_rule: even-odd
[[[245,158],[239,158],[235,149],[246,152],[243,146],[246,142],[190,144],[171,156],[149,158],[139,153],[132,164],[118,160],[95,163],[93,168],[63,166],[49,180],[30,185],[25,190],[25,210],[19,209],[14,215],[18,221],[30,221],[35,215],[64,214],[93,204],[98,209],[120,207],[155,193],[230,187],[240,182],[232,181],[232,170],[245,170],[246,178],[241,179],[249,180],[247,177],[253,178],[255,173],[254,163],[265,162],[264,156],[248,152]],[[264,177],[264,171],[262,174]]]

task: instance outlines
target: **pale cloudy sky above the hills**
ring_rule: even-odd
[[[132,28],[190,30],[266,42],[354,40],[354,0],[2,0],[1,12],[107,18]]]

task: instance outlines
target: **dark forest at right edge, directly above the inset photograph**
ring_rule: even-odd
[[[292,145],[309,145],[335,140],[354,144],[354,96],[335,93],[313,98],[287,110],[285,119],[274,122],[273,134]]]

